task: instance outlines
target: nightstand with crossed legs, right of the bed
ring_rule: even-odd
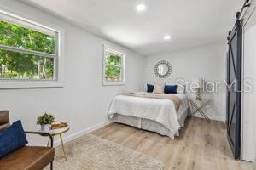
[[[191,116],[193,116],[195,113],[199,112],[201,116],[203,116],[205,119],[207,119],[207,122],[211,122],[211,119],[205,114],[204,111],[201,109],[203,106],[207,105],[210,103],[210,99],[201,99],[201,100],[192,100],[189,99],[189,105],[190,105],[190,110],[192,111]]]

